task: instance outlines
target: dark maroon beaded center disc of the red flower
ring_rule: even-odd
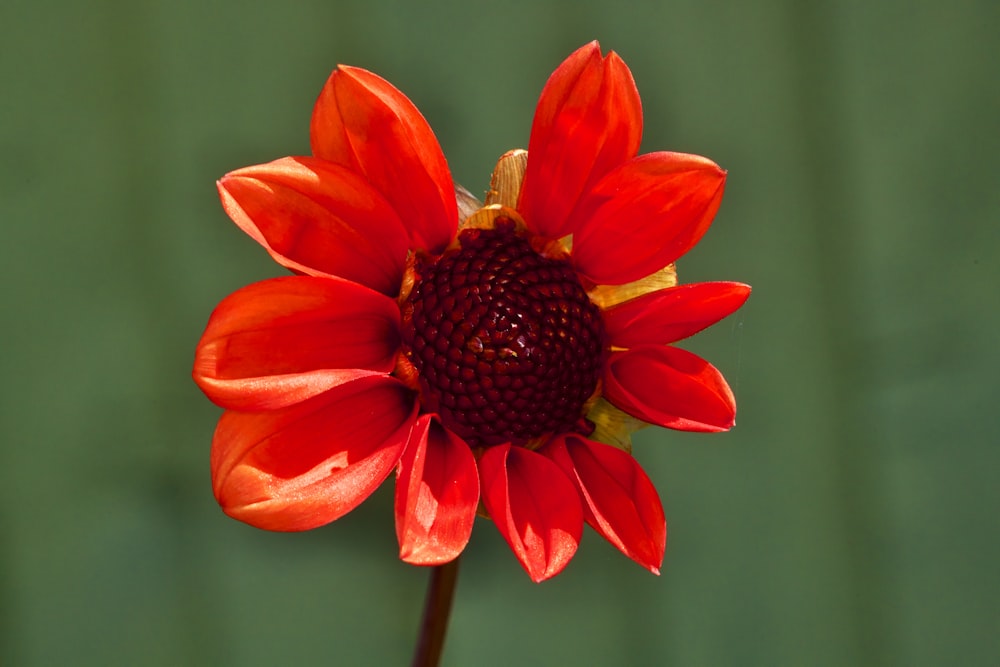
[[[473,446],[589,431],[604,326],[572,267],[513,225],[467,229],[459,243],[418,264],[403,305],[424,410]]]

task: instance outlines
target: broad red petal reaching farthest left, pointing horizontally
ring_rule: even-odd
[[[385,374],[399,347],[392,299],[346,280],[289,276],[248,285],[215,309],[194,380],[232,410],[273,410]]]

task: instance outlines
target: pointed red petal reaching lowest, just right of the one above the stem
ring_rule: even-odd
[[[580,543],[583,510],[555,463],[523,447],[490,447],[479,459],[486,510],[536,582],[559,574]]]

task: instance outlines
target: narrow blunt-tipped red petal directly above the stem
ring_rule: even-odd
[[[399,557],[440,565],[458,557],[472,535],[479,473],[472,450],[432,415],[414,424],[396,472]]]

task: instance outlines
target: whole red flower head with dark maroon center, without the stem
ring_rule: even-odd
[[[637,156],[641,127],[628,68],[588,44],[483,205],[401,92],[334,71],[313,157],[219,181],[229,216],[296,274],[227,297],[198,343],[195,381],[226,409],[211,458],[225,512],[315,528],[395,470],[407,562],[457,557],[479,511],[535,581],[566,566],[584,521],[658,572],[663,509],[628,434],[733,425],[720,373],[671,344],[750,288],[676,286],[725,172]]]

